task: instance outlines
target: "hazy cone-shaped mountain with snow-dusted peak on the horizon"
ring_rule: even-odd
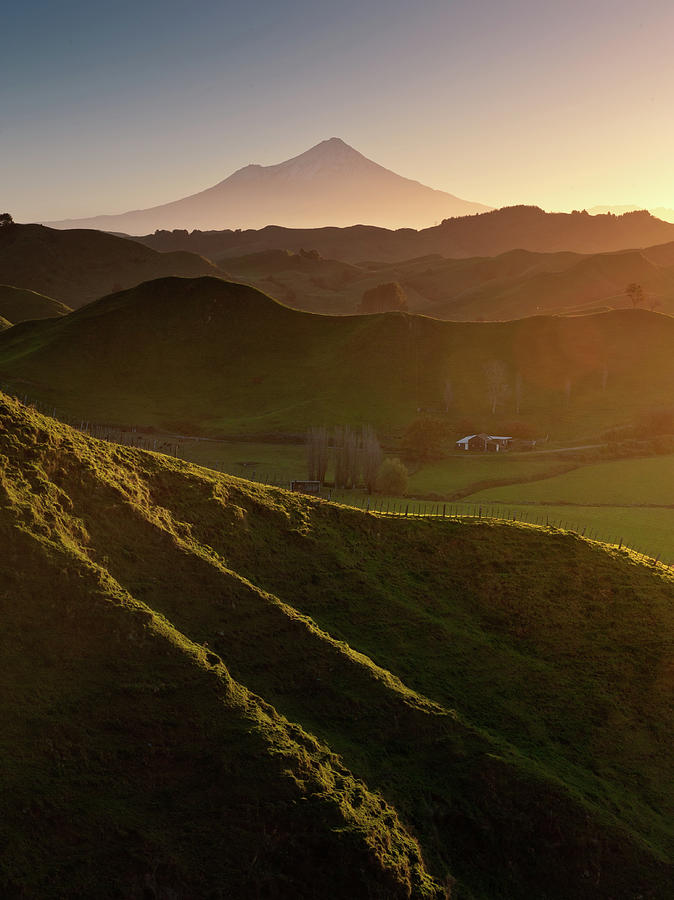
[[[422,228],[488,209],[396,175],[333,137],[277,165],[244,166],[214,187],[173,203],[50,224],[137,235],[265,225]]]

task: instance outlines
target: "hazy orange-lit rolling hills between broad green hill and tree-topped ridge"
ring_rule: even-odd
[[[223,263],[238,280],[289,306],[331,315],[353,314],[364,291],[390,281],[402,285],[411,311],[452,321],[629,307],[630,283],[641,285],[647,308],[674,312],[674,266],[651,260],[648,250],[592,255],[511,250],[496,257],[431,255],[360,266],[276,250]]]

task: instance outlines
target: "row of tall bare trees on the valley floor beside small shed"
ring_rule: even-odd
[[[336,488],[363,483],[368,491],[375,489],[383,453],[370,425],[358,430],[340,425],[332,433],[327,428],[310,428],[306,446],[310,480],[325,481],[332,451]]]

